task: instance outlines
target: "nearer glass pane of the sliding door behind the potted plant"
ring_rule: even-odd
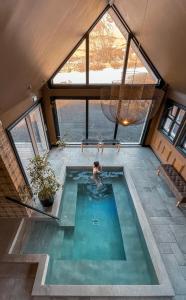
[[[17,152],[19,154],[19,158],[25,170],[25,173],[28,176],[27,166],[29,164],[29,160],[35,155],[25,119],[21,120],[11,130],[11,135]]]

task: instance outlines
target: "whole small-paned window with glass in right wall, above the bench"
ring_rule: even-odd
[[[168,101],[166,105],[160,129],[171,142],[174,142],[178,137],[185,119],[185,111],[184,106],[173,101]]]

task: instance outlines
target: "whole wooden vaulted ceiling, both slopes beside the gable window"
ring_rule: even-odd
[[[106,0],[0,1],[0,113],[38,91],[107,5]],[[170,86],[186,93],[186,1],[115,0]]]

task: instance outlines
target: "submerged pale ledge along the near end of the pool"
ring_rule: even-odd
[[[146,264],[141,261],[53,260],[46,283],[151,284],[146,268]]]

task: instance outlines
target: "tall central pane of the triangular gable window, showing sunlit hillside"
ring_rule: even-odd
[[[107,12],[91,31],[89,51],[89,82],[120,83],[126,38],[121,32],[119,20],[113,19],[110,12]]]

